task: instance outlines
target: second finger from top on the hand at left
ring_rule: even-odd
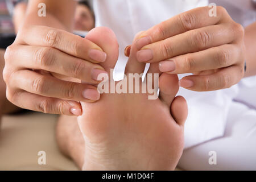
[[[43,69],[67,77],[79,78],[90,84],[98,83],[98,75],[107,73],[98,64],[90,63],[57,49],[40,46],[15,46],[11,64],[18,68]]]

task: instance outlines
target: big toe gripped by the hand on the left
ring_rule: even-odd
[[[114,32],[107,27],[96,27],[86,35],[85,39],[97,44],[106,53],[106,60],[100,65],[110,73],[110,69],[114,69],[118,60],[119,46]]]

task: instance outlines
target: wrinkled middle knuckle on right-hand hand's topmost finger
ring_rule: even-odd
[[[189,31],[196,26],[196,17],[191,13],[180,14],[179,22],[184,31]]]

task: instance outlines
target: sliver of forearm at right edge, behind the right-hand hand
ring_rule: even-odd
[[[246,73],[245,77],[256,75],[256,22],[245,28]]]

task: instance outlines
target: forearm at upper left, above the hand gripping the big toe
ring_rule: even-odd
[[[39,3],[46,4],[46,17],[38,16]],[[33,0],[28,2],[27,14],[23,26],[41,25],[59,28],[67,31],[72,30],[73,15],[76,8],[76,1],[73,0]]]

